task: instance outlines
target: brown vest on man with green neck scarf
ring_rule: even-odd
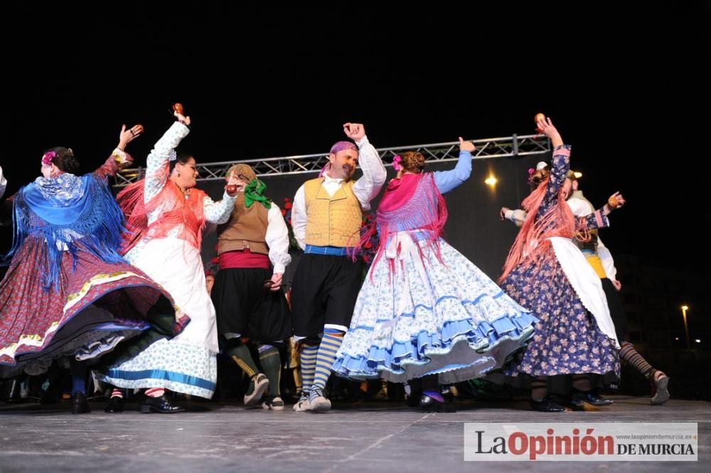
[[[252,253],[269,254],[267,241],[267,225],[269,210],[260,202],[252,207],[245,206],[245,195],[240,192],[227,223],[218,225],[218,254],[225,251],[243,250],[249,248]]]

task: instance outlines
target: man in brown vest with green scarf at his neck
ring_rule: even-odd
[[[225,179],[237,179],[237,202],[230,219],[218,227],[220,271],[213,303],[223,353],[250,376],[245,404],[282,411],[279,344],[292,335],[292,319],[282,290],[289,256],[289,230],[282,211],[264,195],[267,186],[247,164],[235,164]],[[245,340],[257,344],[257,368]],[[265,376],[266,374],[266,376]]]

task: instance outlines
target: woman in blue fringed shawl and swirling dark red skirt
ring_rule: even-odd
[[[84,361],[132,337],[170,337],[187,322],[164,289],[117,252],[123,215],[107,178],[131,161],[124,149],[142,131],[123,126],[107,161],[81,176],[71,148],[51,148],[42,177],[9,199],[15,234],[0,283],[0,373],[39,374],[71,357],[73,413],[90,411]]]

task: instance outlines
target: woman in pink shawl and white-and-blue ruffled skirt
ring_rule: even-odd
[[[533,335],[536,322],[442,239],[442,194],[471,173],[474,144],[459,138],[459,149],[456,167],[444,172],[425,173],[419,152],[395,157],[397,177],[375,219],[380,247],[333,364],[336,374],[354,379],[421,378],[426,411],[451,408],[439,384],[501,367]]]

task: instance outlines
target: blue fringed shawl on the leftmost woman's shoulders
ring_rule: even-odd
[[[22,187],[14,200],[13,243],[7,257],[18,254],[27,237],[42,241],[45,257],[37,264],[46,291],[59,288],[65,251],[72,256],[72,271],[76,270],[80,251],[108,263],[124,262],[117,252],[125,230],[124,216],[107,183],[93,174],[70,177],[74,197],[70,200],[53,197],[51,190],[50,195],[45,189],[41,192],[36,183]],[[59,186],[58,190],[67,191]]]

